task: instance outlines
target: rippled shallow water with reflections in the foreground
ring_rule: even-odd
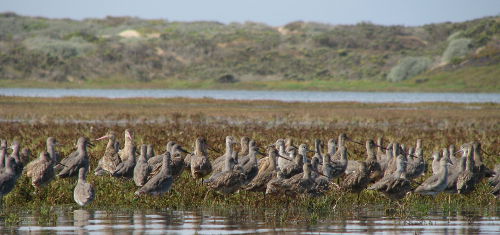
[[[56,208],[50,216],[18,212],[17,225],[0,221],[1,233],[120,233],[120,234],[248,234],[248,233],[368,233],[368,234],[499,234],[500,217],[480,212],[433,212],[423,217],[399,218],[384,211],[358,209],[349,216],[317,223],[266,222],[270,211],[250,210],[83,210]],[[307,217],[305,212],[305,217]],[[50,218],[50,219],[47,219]]]

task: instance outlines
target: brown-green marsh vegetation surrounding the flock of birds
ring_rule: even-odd
[[[67,156],[79,136],[92,139],[112,129],[123,133],[135,130],[137,144],[151,143],[163,151],[168,140],[192,150],[196,136],[207,137],[209,144],[223,149],[226,135],[249,136],[261,146],[278,138],[291,137],[296,143],[313,144],[315,138],[335,138],[341,132],[364,141],[383,136],[386,141],[414,145],[422,138],[424,154],[430,161],[432,151],[479,140],[485,152],[484,162],[492,167],[499,162],[500,113],[498,104],[362,104],[362,103],[284,103],[277,101],[218,101],[212,99],[99,99],[99,98],[19,98],[0,97],[0,137],[18,138],[34,153],[44,148],[45,139],[54,136],[62,144],[59,151]],[[119,140],[123,142],[120,135]],[[89,150],[91,170],[105,149],[97,142]],[[365,157],[363,146],[349,144],[356,160]],[[213,159],[217,153],[210,153]],[[430,173],[424,178],[427,178]],[[322,216],[354,213],[353,208],[380,206],[398,216],[425,215],[430,210],[456,211],[480,209],[494,215],[498,200],[489,194],[485,183],[470,195],[447,194],[437,197],[409,195],[399,204],[377,192],[355,194],[337,190],[318,198],[284,196],[264,197],[261,193],[240,192],[221,196],[210,192],[189,177],[188,172],[162,197],[135,197],[131,180],[89,175],[97,195],[90,208],[268,208],[274,210],[268,222],[297,220],[315,222]],[[418,179],[417,181],[421,181]],[[75,179],[55,180],[35,192],[22,176],[16,188],[3,199],[4,212],[19,208],[50,208],[76,205],[73,202]],[[283,208],[290,208],[284,212]],[[396,209],[394,209],[396,208]],[[41,209],[40,209],[41,210]],[[307,211],[306,214],[302,213]],[[415,214],[416,213],[416,214]],[[304,217],[305,216],[305,217]]]

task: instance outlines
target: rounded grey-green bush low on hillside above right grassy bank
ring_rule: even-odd
[[[406,57],[391,69],[387,79],[392,82],[403,81],[424,72],[431,63],[427,57]]]

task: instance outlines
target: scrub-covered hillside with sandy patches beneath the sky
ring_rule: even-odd
[[[500,68],[499,32],[498,17],[418,27],[369,22],[271,27],[3,13],[0,85],[498,92],[498,76],[490,72]],[[443,77],[462,69],[478,71],[491,83],[468,88],[461,79],[446,78],[451,83],[432,86],[439,83],[434,76],[407,82],[418,74]]]

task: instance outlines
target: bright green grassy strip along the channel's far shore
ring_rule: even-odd
[[[76,82],[2,80],[0,87],[21,88],[127,88],[127,89],[228,89],[313,91],[405,91],[405,92],[500,92],[500,70],[496,65],[431,71],[402,82],[385,80],[239,81],[160,79],[148,82],[124,78],[88,79]]]

